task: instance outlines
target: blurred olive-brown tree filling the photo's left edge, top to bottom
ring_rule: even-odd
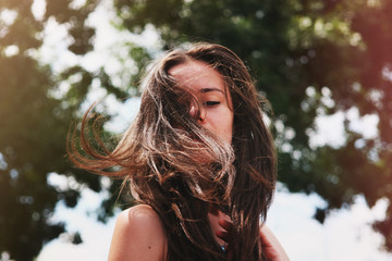
[[[33,1],[0,1],[0,252],[16,260],[33,260],[42,244],[63,233],[64,224],[50,221],[53,208],[59,200],[74,207],[79,197],[77,189],[50,186],[50,172],[73,173],[100,189],[98,178],[76,173],[65,159],[68,129],[91,77],[75,69],[74,74],[87,79],[69,95],[78,102],[61,101],[50,95],[59,77],[37,60],[50,18],[69,23],[74,53],[91,49],[94,29],[84,22],[95,5],[87,2],[75,10],[70,2],[48,1],[46,16],[38,18],[32,13]],[[78,238],[74,235],[75,243]]]

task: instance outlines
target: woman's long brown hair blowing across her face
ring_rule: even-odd
[[[168,72],[189,60],[209,64],[224,80],[234,112],[231,146],[197,124],[189,102],[179,102],[189,94]],[[244,63],[225,47],[195,44],[157,61],[142,88],[139,113],[113,151],[94,149],[84,134],[86,115],[81,146],[88,157],[72,144],[70,159],[94,173],[123,177],[137,202],[157,211],[167,231],[167,260],[225,260],[207,219],[211,204],[232,219],[234,260],[262,260],[259,226],[274,190],[275,151],[264,123],[268,102]],[[195,156],[206,151],[213,161],[200,163]]]

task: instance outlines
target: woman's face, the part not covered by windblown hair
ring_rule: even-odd
[[[181,88],[189,91],[199,103],[197,122],[219,138],[231,144],[233,135],[233,104],[220,73],[205,62],[191,60],[173,66],[169,74]],[[197,104],[191,104],[189,114],[197,116]]]

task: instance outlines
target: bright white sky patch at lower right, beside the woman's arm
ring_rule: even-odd
[[[380,250],[382,237],[371,228],[375,220],[384,216],[387,206],[381,199],[369,209],[357,197],[351,209],[333,211],[321,225],[313,219],[315,208],[323,207],[320,197],[280,191],[267,224],[292,261],[387,261],[392,254]]]

